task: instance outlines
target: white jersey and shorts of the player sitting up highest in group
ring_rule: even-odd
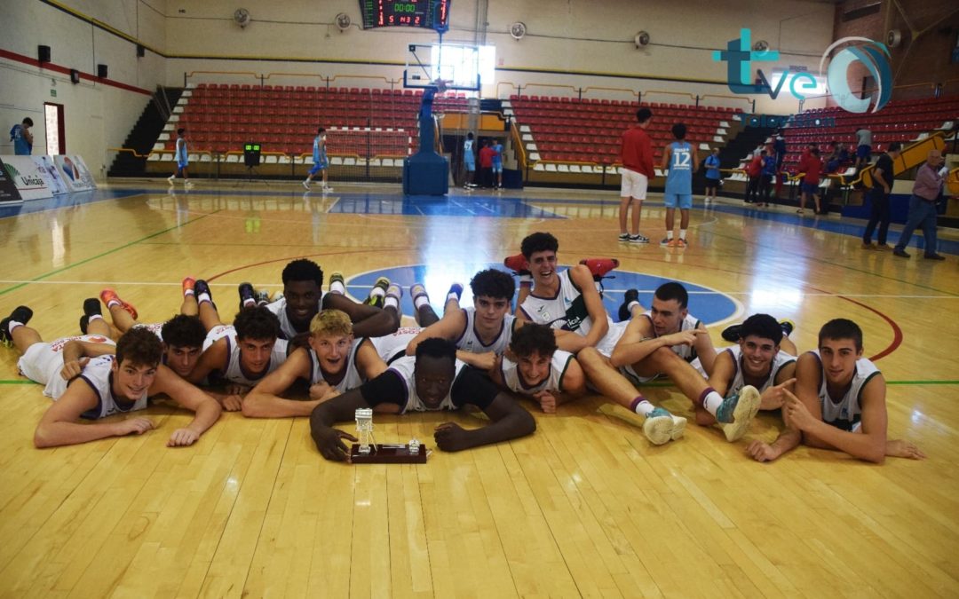
[[[559,290],[554,297],[539,297],[530,293],[520,310],[526,314],[526,318],[537,324],[586,336],[593,328],[593,319],[586,310],[586,300],[570,279],[569,269],[556,276],[559,277]],[[609,357],[628,323],[614,323],[609,314],[606,314],[606,323],[609,331],[596,343],[596,349]]]

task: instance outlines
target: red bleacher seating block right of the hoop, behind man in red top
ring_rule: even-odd
[[[616,162],[620,135],[636,124],[636,102],[580,100],[555,96],[512,95],[510,105],[521,127],[526,151],[546,162],[584,162],[609,165]],[[723,120],[730,120],[733,108],[686,104],[643,104],[653,111],[647,132],[653,140],[655,160],[673,141],[671,127],[685,123],[687,140],[713,144]]]

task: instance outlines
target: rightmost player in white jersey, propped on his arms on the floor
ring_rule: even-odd
[[[785,430],[772,444],[754,441],[757,461],[775,460],[802,442],[882,463],[886,456],[922,459],[908,441],[886,438],[886,381],[862,357],[862,330],[852,320],[830,320],[819,331],[819,350],[796,363],[796,394],[784,391]]]

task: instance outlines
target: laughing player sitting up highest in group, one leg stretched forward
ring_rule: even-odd
[[[521,250],[533,285],[523,299],[521,283],[522,304],[517,317],[572,331],[573,334],[557,334],[557,343],[560,349],[576,354],[590,383],[609,399],[643,416],[643,433],[650,443],[663,445],[679,439],[686,429],[686,419],[649,403],[597,350],[597,345],[607,349],[610,339],[620,334],[620,327],[610,334],[612,319],[602,305],[589,265],[579,264],[556,272],[558,249],[559,242],[549,233],[533,233],[523,240]]]

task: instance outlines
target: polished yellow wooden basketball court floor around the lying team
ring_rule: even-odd
[[[32,435],[49,400],[0,349],[0,596],[959,595],[954,237],[944,263],[915,248],[905,261],[861,250],[861,222],[697,200],[690,248],[671,250],[618,243],[608,192],[427,204],[402,202],[391,186],[337,185],[325,198],[262,183],[199,182],[174,196],[155,184],[111,189],[101,201],[0,219],[3,313],[28,304],[45,338],[74,334],[82,299],[109,285],[141,320],[159,321],[177,310],[187,274],[211,279],[232,307],[236,284],[280,288],[280,270],[299,256],[348,278],[427,265],[440,291],[549,230],[566,264],[616,257],[624,270],[791,318],[800,350],[826,320],[853,318],[891,383],[890,437],[928,459],[873,466],[799,448],[753,462],[744,449],[775,438],[772,415],[737,444],[691,426],[657,448],[599,397],[552,416],[529,403],[532,437],[437,451],[423,466],[329,463],[306,419],[239,413],[196,446],[167,449],[190,416],[164,406],[150,408],[158,430],[141,437],[40,450]],[[654,241],[663,213],[655,197],[643,210]],[[673,387],[648,395],[691,418]],[[378,438],[432,445],[433,426],[451,418],[480,424],[468,414],[384,417]]]

